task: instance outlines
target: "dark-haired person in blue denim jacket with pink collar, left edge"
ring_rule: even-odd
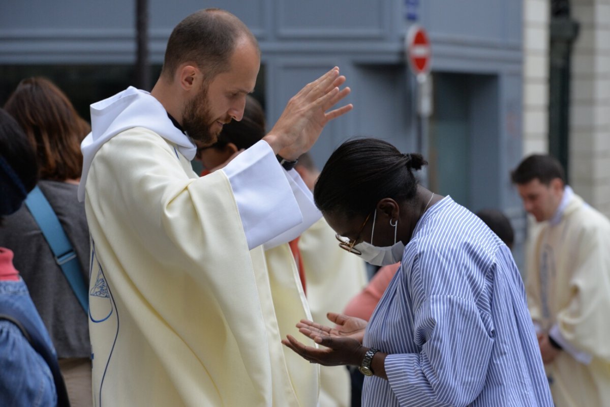
[[[35,150],[19,124],[0,109],[0,231],[37,182]],[[0,405],[70,406],[57,353],[27,286],[0,245]]]

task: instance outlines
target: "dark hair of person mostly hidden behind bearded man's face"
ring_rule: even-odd
[[[229,143],[237,149],[246,149],[259,142],[265,136],[265,112],[259,101],[246,96],[246,107],[240,121],[232,120],[223,126],[216,143],[210,147],[223,149]]]

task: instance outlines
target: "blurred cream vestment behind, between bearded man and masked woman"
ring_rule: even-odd
[[[298,244],[311,315],[315,322],[329,325],[326,312],[342,313],[366,286],[365,262],[339,247],[335,231],[324,218],[304,231]],[[345,366],[320,366],[321,407],[350,406],[350,395],[350,375]]]

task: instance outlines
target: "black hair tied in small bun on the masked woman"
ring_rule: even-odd
[[[383,198],[413,198],[417,180],[412,170],[426,164],[422,154],[402,154],[383,140],[348,140],[322,169],[314,188],[315,204],[324,213],[366,216]]]

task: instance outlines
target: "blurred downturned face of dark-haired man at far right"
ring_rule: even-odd
[[[553,217],[564,194],[564,184],[559,178],[548,185],[534,178],[525,184],[517,184],[517,190],[528,214],[534,215],[536,222],[544,222]]]

